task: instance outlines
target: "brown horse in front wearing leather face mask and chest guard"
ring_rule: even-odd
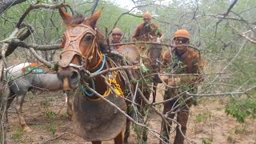
[[[58,71],[58,76],[63,81],[64,90],[78,87],[78,92],[74,97],[74,132],[94,144],[111,139],[114,139],[114,143],[121,144],[122,130],[126,124],[125,115],[86,89],[86,86],[90,86],[126,112],[126,103],[122,98],[125,82],[121,72],[105,75],[108,82],[111,81],[112,85],[117,88],[119,94],[110,90],[103,76],[88,78],[90,73],[97,74],[101,70],[114,66],[113,61],[102,54],[102,50],[105,49],[103,43],[105,40],[96,28],[102,11],[90,18],[79,15],[71,16],[62,9],[59,9],[59,13],[67,30],[62,42],[63,51],[60,63],[62,70]]]

